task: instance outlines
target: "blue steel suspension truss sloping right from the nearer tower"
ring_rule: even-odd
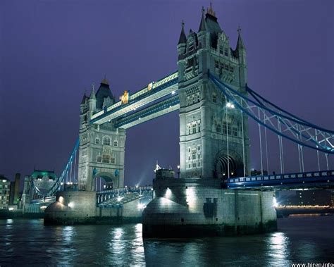
[[[212,82],[221,89],[228,101],[232,102],[250,118],[276,135],[289,139],[301,147],[309,147],[327,154],[334,154],[334,132],[307,122],[272,104],[252,89],[247,92],[253,99],[237,92],[229,85],[209,73]]]

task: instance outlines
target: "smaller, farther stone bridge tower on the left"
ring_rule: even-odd
[[[114,127],[113,120],[94,125],[90,120],[107,106],[115,103],[109,82],[101,82],[97,94],[94,88],[89,97],[84,95],[80,104],[79,129],[79,190],[95,191],[95,179],[112,182],[113,188],[124,185],[125,130]]]

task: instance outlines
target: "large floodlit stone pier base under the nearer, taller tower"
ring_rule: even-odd
[[[277,229],[273,192],[222,190],[214,179],[154,180],[143,237],[247,235]]]

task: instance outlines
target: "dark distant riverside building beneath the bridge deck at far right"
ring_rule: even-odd
[[[332,192],[328,190],[296,190],[294,192],[295,194],[276,192],[278,204],[280,206],[332,206]]]

